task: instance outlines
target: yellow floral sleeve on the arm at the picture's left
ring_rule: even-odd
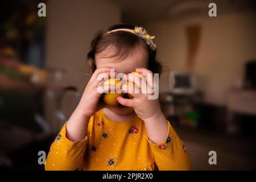
[[[73,171],[80,170],[84,166],[83,156],[87,147],[89,134],[82,140],[72,142],[66,137],[66,124],[51,145],[45,164],[47,171]]]

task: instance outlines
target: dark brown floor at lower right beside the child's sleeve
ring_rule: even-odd
[[[191,155],[193,170],[255,170],[255,136],[225,135],[210,130],[176,128]],[[217,164],[210,165],[209,151],[216,151]]]

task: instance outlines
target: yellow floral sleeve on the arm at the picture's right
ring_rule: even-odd
[[[191,159],[187,148],[172,128],[170,122],[168,122],[166,140],[154,144],[149,138],[147,139],[159,170],[191,170]]]

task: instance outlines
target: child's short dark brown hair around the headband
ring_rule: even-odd
[[[97,32],[97,34],[94,36],[94,39],[92,40],[92,43],[90,44],[90,51],[87,54],[87,60],[91,73],[96,70],[96,53],[100,53],[104,51],[104,49],[108,46],[113,45],[116,48],[116,51],[109,57],[118,56],[121,59],[129,55],[129,52],[135,47],[143,46],[148,54],[148,69],[150,69],[150,71],[153,73],[159,73],[160,75],[162,72],[162,65],[155,59],[156,50],[152,51],[152,49],[150,49],[150,47],[146,44],[146,42],[144,42],[142,38],[140,38],[138,35],[126,31],[116,31],[112,34],[106,34],[108,31],[119,28],[129,28],[134,30],[134,27],[135,26],[129,24],[115,24],[109,27],[107,30],[101,30]]]

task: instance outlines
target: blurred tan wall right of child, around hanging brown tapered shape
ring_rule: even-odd
[[[184,71],[187,61],[185,27],[200,24],[201,39],[193,65],[205,102],[224,105],[228,90],[243,78],[244,63],[256,59],[256,15],[250,13],[191,16],[145,25],[156,35],[158,59],[170,71]],[[168,91],[168,73],[160,79],[160,92]]]

